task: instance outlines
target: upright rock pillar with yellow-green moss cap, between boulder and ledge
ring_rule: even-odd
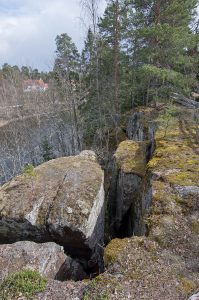
[[[114,155],[109,191],[109,222],[113,236],[147,233],[144,218],[151,205],[150,174],[146,171],[147,143],[126,140]]]

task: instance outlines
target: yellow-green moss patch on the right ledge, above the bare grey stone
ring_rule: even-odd
[[[156,151],[148,163],[152,172],[160,172],[172,185],[197,186],[199,178],[198,154],[191,137],[183,134],[180,127],[168,131],[164,138],[162,130],[157,132]]]

